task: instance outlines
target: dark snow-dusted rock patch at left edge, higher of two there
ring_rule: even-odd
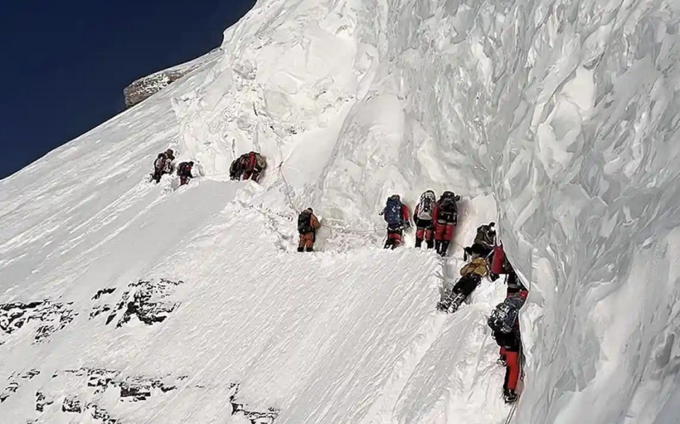
[[[8,340],[9,335],[33,321],[40,323],[35,330],[36,342],[64,329],[78,315],[70,305],[72,302],[63,304],[49,300],[0,304],[0,330],[4,333],[0,333],[0,345]]]

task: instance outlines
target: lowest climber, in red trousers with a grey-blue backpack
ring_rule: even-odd
[[[519,310],[523,306],[528,292],[521,290],[496,306],[487,323],[493,331],[496,343],[504,349],[504,357],[499,362],[505,365],[503,382],[503,398],[506,403],[517,400],[517,383],[521,376],[522,341],[519,333]]]

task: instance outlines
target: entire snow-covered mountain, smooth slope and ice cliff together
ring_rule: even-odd
[[[677,422],[679,25],[662,0],[259,1],[215,62],[0,181],[0,422]],[[149,184],[167,147],[203,176]],[[228,181],[251,149],[261,185]],[[385,197],[426,188],[465,197],[446,263],[380,248]],[[504,287],[433,310],[489,220],[531,285],[513,416]]]

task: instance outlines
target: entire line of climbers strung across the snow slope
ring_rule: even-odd
[[[159,154],[154,162],[152,179],[159,183],[164,174],[171,174],[174,169],[174,151],[167,149]],[[181,162],[177,166],[180,185],[185,185],[191,178],[193,161]],[[232,180],[258,181],[266,168],[264,158],[254,151],[243,154],[229,166],[229,178]],[[458,224],[458,207],[460,196],[451,191],[442,193],[439,200],[433,190],[426,190],[416,205],[414,221],[416,226],[416,248],[421,248],[423,241],[426,248],[435,248],[440,256],[446,256],[449,244],[453,239],[455,226]],[[396,248],[402,244],[404,229],[411,228],[409,208],[402,203],[399,195],[391,195],[380,215],[387,222],[387,239],[384,248]],[[493,331],[494,340],[500,347],[499,364],[506,368],[503,384],[503,397],[507,403],[517,400],[517,385],[522,376],[523,353],[519,333],[519,310],[523,306],[528,290],[521,283],[514,268],[505,255],[502,244],[497,245],[495,223],[477,228],[477,235],[472,246],[463,250],[464,260],[470,260],[460,270],[460,279],[453,285],[449,294],[443,295],[437,309],[453,313],[467,297],[475,291],[483,277],[495,281],[504,274],[507,285],[506,299],[498,304],[487,320]],[[298,252],[314,251],[317,229],[321,226],[311,207],[300,212],[297,217],[297,231],[300,234]]]

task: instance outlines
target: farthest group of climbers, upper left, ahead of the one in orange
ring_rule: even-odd
[[[193,177],[193,161],[181,162],[175,166],[175,155],[172,149],[159,153],[154,161],[154,171],[152,181],[160,183],[162,176],[172,175],[177,170],[179,185],[188,184]],[[259,181],[260,176],[267,167],[264,157],[256,151],[242,154],[239,158],[232,161],[229,166],[229,178],[232,180],[252,180]]]

